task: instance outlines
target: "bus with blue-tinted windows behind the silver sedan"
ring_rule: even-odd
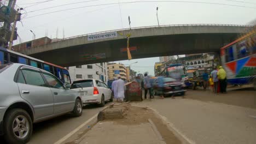
[[[32,67],[49,71],[58,77],[63,83],[71,83],[67,69],[60,67],[59,65],[41,61],[40,59],[22,55],[21,53],[0,47],[0,65],[5,63],[22,63],[31,65]]]

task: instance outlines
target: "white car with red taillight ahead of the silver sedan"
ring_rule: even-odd
[[[73,81],[71,89],[82,97],[83,104],[105,105],[105,101],[113,101],[112,91],[101,80],[85,79]]]

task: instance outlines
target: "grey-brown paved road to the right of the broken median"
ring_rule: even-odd
[[[255,91],[252,92],[255,94]],[[198,93],[208,94],[203,91]],[[248,92],[240,94],[242,96],[246,93]],[[190,91],[188,94],[193,95]],[[229,94],[232,93],[223,97],[228,97]],[[137,104],[147,105],[159,111],[195,143],[256,143],[256,118],[250,117],[256,116],[256,109],[188,98],[144,100]]]

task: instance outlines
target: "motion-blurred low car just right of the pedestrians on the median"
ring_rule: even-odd
[[[172,77],[159,76],[156,77],[154,83],[155,95],[163,94],[166,95],[184,95],[186,90],[183,82],[173,79]]]

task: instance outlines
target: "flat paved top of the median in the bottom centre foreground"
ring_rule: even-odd
[[[106,143],[106,144],[164,144],[155,134],[150,123],[139,125],[121,125],[115,122],[98,122],[84,135],[79,144]]]

